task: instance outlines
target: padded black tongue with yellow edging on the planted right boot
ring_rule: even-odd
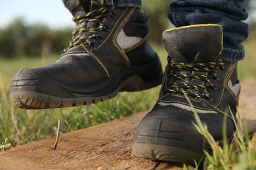
[[[215,61],[223,49],[221,25],[191,25],[163,32],[163,42],[175,62],[207,63]]]

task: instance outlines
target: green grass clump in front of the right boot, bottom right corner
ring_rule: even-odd
[[[184,94],[186,96],[186,94]],[[240,112],[238,111],[238,120],[232,115],[234,124],[236,127],[236,135],[231,144],[227,142],[226,136],[226,119],[223,120],[223,147],[219,146],[213,136],[207,131],[205,126],[194,109],[192,103],[186,96],[186,99],[190,103],[190,106],[194,112],[194,118],[196,120],[196,129],[202,134],[203,139],[211,146],[213,154],[209,154],[204,150],[205,159],[195,162],[194,167],[192,165],[185,165],[184,169],[256,169],[256,135],[247,132],[247,129],[242,126],[243,122],[240,118]]]

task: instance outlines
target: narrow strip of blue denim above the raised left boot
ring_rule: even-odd
[[[105,5],[117,7],[141,7],[141,0],[105,0]]]

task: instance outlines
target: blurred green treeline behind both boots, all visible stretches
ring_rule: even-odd
[[[170,0],[142,0],[148,13],[150,25],[149,41],[162,44],[161,33],[171,27],[167,18]],[[247,22],[256,28],[256,1],[245,1],[245,9],[250,14]],[[50,29],[46,25],[27,25],[22,18],[13,20],[5,28],[0,28],[0,58],[41,57],[49,54],[62,54],[72,39],[74,28]],[[256,36],[253,31],[252,36]]]

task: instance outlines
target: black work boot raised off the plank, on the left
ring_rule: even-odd
[[[79,3],[64,3],[77,24],[70,46],[56,63],[16,73],[11,84],[16,107],[89,105],[119,92],[161,84],[160,60],[146,42],[148,17],[144,10],[91,1],[86,12]]]

